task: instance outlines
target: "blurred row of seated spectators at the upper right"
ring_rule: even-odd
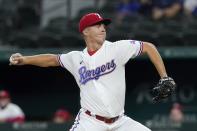
[[[196,0],[119,0],[117,22],[125,17],[144,15],[154,20],[175,18],[180,15],[197,16]]]

